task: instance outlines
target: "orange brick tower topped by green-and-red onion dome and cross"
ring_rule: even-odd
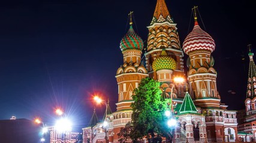
[[[130,13],[131,16],[132,13]],[[116,73],[118,81],[118,103],[117,111],[131,109],[132,94],[138,83],[147,77],[147,70],[141,64],[143,41],[132,28],[132,19],[127,34],[122,38],[120,48],[124,55],[124,64]]]

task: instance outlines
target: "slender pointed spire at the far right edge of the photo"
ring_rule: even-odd
[[[253,59],[253,56],[254,56],[254,53],[251,52],[251,45],[248,45],[249,46],[249,73],[248,73],[248,83],[247,83],[247,91],[246,91],[246,98],[254,98],[256,97],[256,94],[255,94],[255,90],[256,88],[254,88],[256,85],[256,66],[255,66],[255,63],[254,63],[254,59]]]

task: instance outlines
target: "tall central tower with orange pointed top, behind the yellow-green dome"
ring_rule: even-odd
[[[158,79],[152,64],[153,61],[161,55],[162,49],[165,49],[168,57],[171,57],[176,61],[177,67],[173,70],[172,74],[176,76],[184,76],[183,51],[180,48],[176,23],[173,22],[173,18],[167,9],[165,0],[157,0],[153,19],[150,26],[147,28],[149,29],[149,34],[145,57],[146,69],[149,71],[149,77]]]

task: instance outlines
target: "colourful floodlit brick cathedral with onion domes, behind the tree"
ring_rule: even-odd
[[[108,122],[107,129],[103,129],[103,123],[98,123],[94,111],[89,127],[83,128],[84,143],[118,142],[120,129],[131,121],[133,91],[145,77],[158,80],[162,94],[172,98],[173,111],[177,116],[174,142],[237,141],[237,111],[227,110],[228,105],[221,103],[216,86],[217,73],[211,55],[215,50],[215,42],[198,24],[197,7],[193,11],[194,28],[186,36],[183,46],[180,46],[176,23],[168,11],[165,0],[156,2],[153,19],[147,26],[149,33],[146,46],[135,33],[132,20],[130,21],[129,30],[120,43],[124,64],[116,72],[116,111],[112,113],[107,102],[104,115]],[[143,55],[144,47],[146,48]],[[188,55],[188,83],[176,83],[174,77],[185,76],[184,53]],[[255,76],[250,81],[254,79]],[[188,91],[185,90],[186,86]],[[252,87],[254,85],[251,85]],[[255,95],[254,92],[250,94]],[[251,107],[254,110],[256,108],[255,100],[246,101],[246,105],[247,102],[248,108],[250,107],[247,112],[252,114]],[[254,104],[250,105],[249,102]],[[146,139],[144,142],[147,142]]]

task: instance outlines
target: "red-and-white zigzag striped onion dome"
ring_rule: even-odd
[[[195,21],[194,29],[188,36],[186,36],[186,39],[183,42],[183,50],[188,54],[188,52],[200,49],[213,52],[215,49],[215,42],[208,33],[200,28],[197,21]]]

